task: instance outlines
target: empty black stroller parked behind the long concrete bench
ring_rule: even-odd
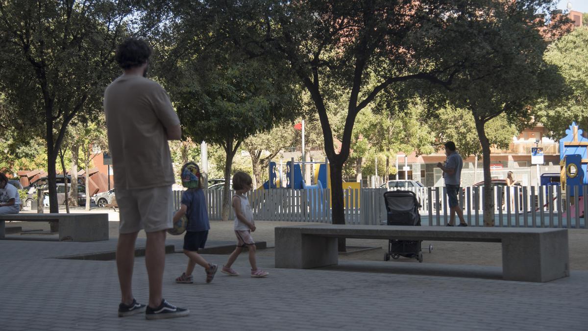
[[[384,193],[384,201],[387,211],[387,225],[394,226],[420,226],[419,201],[413,191],[387,191]],[[388,252],[384,254],[384,260],[398,259],[400,256],[415,258],[423,262],[421,250],[422,240],[395,240],[388,241]],[[429,253],[433,246],[429,245]]]

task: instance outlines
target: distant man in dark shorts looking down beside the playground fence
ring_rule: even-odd
[[[447,202],[449,202],[450,216],[447,226],[453,226],[455,224],[455,214],[459,217],[459,226],[467,226],[466,220],[463,219],[462,207],[459,206],[459,201],[457,201],[457,197],[460,194],[459,185],[462,177],[463,160],[459,153],[457,153],[453,141],[447,141],[443,145],[445,145],[447,160],[445,161],[445,166],[440,162],[437,163],[437,168],[443,170]]]

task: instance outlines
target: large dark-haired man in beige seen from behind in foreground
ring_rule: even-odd
[[[182,136],[178,115],[168,94],[146,77],[151,47],[128,38],[116,48],[123,75],[104,92],[108,144],[112,155],[116,201],[120,207],[116,267],[122,300],[118,316],[145,312],[146,319],[187,316],[188,309],[162,297],[165,233],[172,227],[173,176],[168,140]],[[149,305],[132,294],[135,240],[145,229],[145,264],[149,277]]]

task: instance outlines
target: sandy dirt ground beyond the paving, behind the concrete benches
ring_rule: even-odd
[[[83,212],[75,211],[75,212]],[[104,213],[106,210],[96,209],[91,212]],[[110,237],[118,237],[118,213],[108,211]],[[280,221],[256,221],[257,230],[253,233],[256,241],[266,241],[268,247],[274,244],[274,228],[276,226],[290,226],[296,224],[310,224]],[[6,227],[22,226],[23,230],[49,230],[45,222],[6,222]],[[141,231],[139,237],[145,237]],[[233,221],[211,221],[208,240],[235,240]],[[570,229],[570,269],[588,270],[588,229]],[[362,251],[349,255],[340,255],[342,260],[372,260],[382,261],[387,251],[387,240],[348,239],[348,246],[380,247],[375,250]],[[429,253],[429,245],[433,246]],[[273,256],[273,249],[259,250],[260,256]],[[472,243],[457,241],[423,241],[423,263],[442,264],[475,264],[481,266],[502,266],[502,249],[500,243]],[[416,259],[400,257],[397,263],[418,263]]]

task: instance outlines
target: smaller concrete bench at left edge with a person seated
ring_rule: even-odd
[[[108,214],[0,215],[0,239],[5,237],[5,221],[57,221],[59,224],[59,241],[108,240]]]

